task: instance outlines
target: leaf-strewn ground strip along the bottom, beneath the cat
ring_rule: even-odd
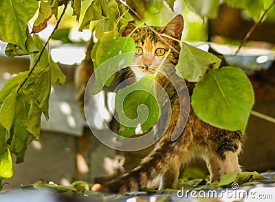
[[[250,179],[245,179],[250,175]],[[263,177],[261,179],[261,176]],[[180,190],[127,192],[126,194],[107,194],[92,192],[91,184],[77,181],[72,186],[58,186],[53,183],[39,181],[25,186],[22,190],[5,190],[0,196],[1,202],[62,202],[62,201],[111,201],[111,202],[166,202],[166,201],[241,201],[241,202],[269,202],[275,201],[275,172],[242,173],[228,175],[214,186],[192,185],[184,186]],[[234,178],[234,179],[233,179]],[[253,180],[251,180],[253,179]],[[239,181],[241,186],[233,181]],[[246,180],[246,181],[244,181]],[[196,181],[196,180],[195,180]],[[194,180],[192,183],[195,182]],[[200,180],[197,182],[201,183]],[[188,182],[190,184],[190,181]],[[230,186],[225,185],[230,184]],[[224,186],[224,188],[217,188]],[[183,192],[184,191],[184,192]]]

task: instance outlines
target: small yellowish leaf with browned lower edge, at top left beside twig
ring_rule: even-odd
[[[42,31],[47,27],[47,21],[52,18],[52,8],[50,2],[45,2],[41,0],[39,7],[39,16],[34,21],[34,26],[32,27],[32,33],[37,33]]]

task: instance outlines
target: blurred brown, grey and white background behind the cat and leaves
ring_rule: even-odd
[[[82,16],[89,6],[83,1]],[[237,46],[254,24],[247,12],[230,8],[222,3],[217,18],[206,20],[190,11],[186,5],[175,1],[172,12],[163,1],[128,1],[148,25],[162,26],[176,14],[184,16],[182,40],[201,49],[214,50],[225,55],[225,62],[243,68],[252,82],[255,104],[246,130],[245,144],[240,164],[245,171],[272,171],[275,168],[275,10],[272,8],[252,33],[239,55],[234,56]],[[14,164],[14,176],[5,180],[8,188],[19,188],[21,184],[32,184],[39,179],[67,185],[71,181],[102,182],[136,166],[151,148],[138,152],[123,153],[106,147],[99,142],[87,126],[83,114],[83,93],[93,66],[89,53],[96,43],[93,25],[91,29],[78,31],[79,23],[72,17],[72,10],[61,23],[61,29],[50,42],[50,53],[63,73],[67,76],[64,86],[52,85],[50,97],[50,120],[42,117],[41,138],[28,146],[23,164]],[[34,16],[34,19],[36,17]],[[56,21],[51,19],[46,29],[39,33],[47,40]],[[138,23],[137,23],[138,24]],[[27,71],[29,57],[8,58],[5,56],[6,44],[0,42],[0,87],[5,81],[21,71]],[[86,54],[87,53],[87,54]],[[108,133],[104,121],[113,131],[118,125],[111,116],[107,104],[110,93],[99,95],[104,102],[96,103],[88,116],[94,117],[94,128]],[[96,101],[94,101],[96,102]],[[100,121],[98,121],[100,120]],[[190,165],[206,171],[201,161]]]

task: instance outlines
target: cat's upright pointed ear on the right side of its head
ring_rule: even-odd
[[[184,18],[179,14],[164,27],[164,33],[180,40],[183,29]]]

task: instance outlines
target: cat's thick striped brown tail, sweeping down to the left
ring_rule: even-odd
[[[146,187],[149,182],[159,175],[164,175],[168,167],[179,158],[179,151],[183,149],[183,145],[178,144],[179,139],[183,137],[179,137],[177,141],[171,142],[171,137],[168,134],[172,134],[169,129],[157,142],[155,149],[142,160],[139,166],[133,168],[129,173],[125,173],[117,179],[110,181],[106,185],[107,189],[111,192],[120,193],[137,191],[139,188]]]

